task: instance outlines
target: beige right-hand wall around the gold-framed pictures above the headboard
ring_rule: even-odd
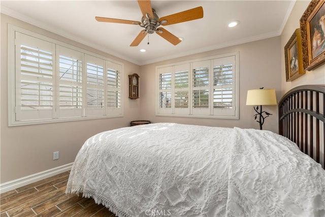
[[[281,34],[281,90],[282,95],[288,90],[306,84],[325,84],[325,65],[322,65],[299,78],[286,82],[285,79],[285,61],[284,61],[284,46],[289,41],[297,28],[300,28],[300,18],[307,9],[310,1],[296,1],[296,4],[291,12],[286,25]]]

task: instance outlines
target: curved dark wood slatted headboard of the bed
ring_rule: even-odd
[[[325,85],[303,85],[289,90],[279,102],[279,134],[324,167]]]

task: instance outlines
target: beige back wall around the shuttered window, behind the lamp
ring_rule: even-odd
[[[239,120],[184,118],[155,116],[155,67],[178,61],[213,56],[239,51]],[[253,119],[252,106],[246,106],[247,90],[259,87],[275,88],[277,98],[281,93],[280,37],[240,44],[159,63],[141,66],[141,110],[140,118],[152,122],[178,122],[218,127],[241,127],[259,129]],[[264,106],[272,113],[266,118],[263,129],[278,132],[277,106]]]

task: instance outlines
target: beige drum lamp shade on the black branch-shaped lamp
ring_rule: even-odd
[[[275,89],[251,89],[247,91],[246,105],[276,105]]]

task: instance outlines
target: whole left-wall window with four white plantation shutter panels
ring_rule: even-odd
[[[122,116],[122,64],[12,25],[9,32],[9,126]]]

